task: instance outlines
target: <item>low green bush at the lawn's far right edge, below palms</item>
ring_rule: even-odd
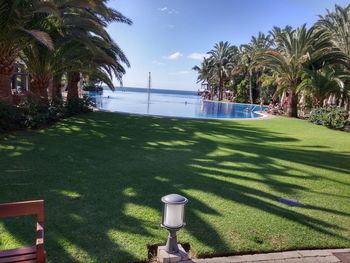
[[[310,113],[309,121],[331,129],[343,129],[347,122],[346,111],[336,106],[315,108]]]

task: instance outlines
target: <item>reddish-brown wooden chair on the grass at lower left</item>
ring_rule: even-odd
[[[0,251],[0,263],[45,263],[44,200],[0,204],[0,218],[36,215],[36,245]]]

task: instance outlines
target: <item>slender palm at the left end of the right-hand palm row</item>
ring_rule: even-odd
[[[225,80],[230,76],[236,64],[238,48],[228,42],[219,42],[208,52],[210,55],[211,74],[216,76],[219,88],[219,100],[223,98],[223,88]]]

